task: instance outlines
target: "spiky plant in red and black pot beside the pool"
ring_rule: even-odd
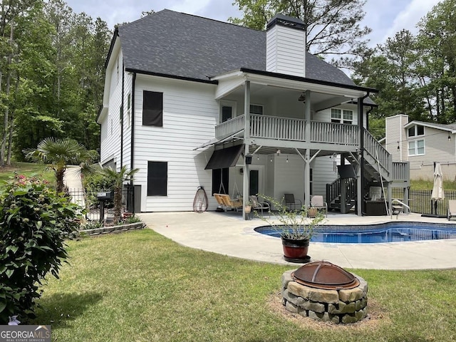
[[[283,204],[283,200],[278,202],[271,197],[264,198],[277,210],[274,212],[276,219],[259,217],[271,225],[276,232],[279,232],[284,249],[284,259],[291,262],[309,262],[311,259],[307,254],[309,243],[314,235],[315,227],[323,222],[323,214],[317,211],[315,216],[310,218],[308,210],[304,206],[299,210],[289,210]]]

